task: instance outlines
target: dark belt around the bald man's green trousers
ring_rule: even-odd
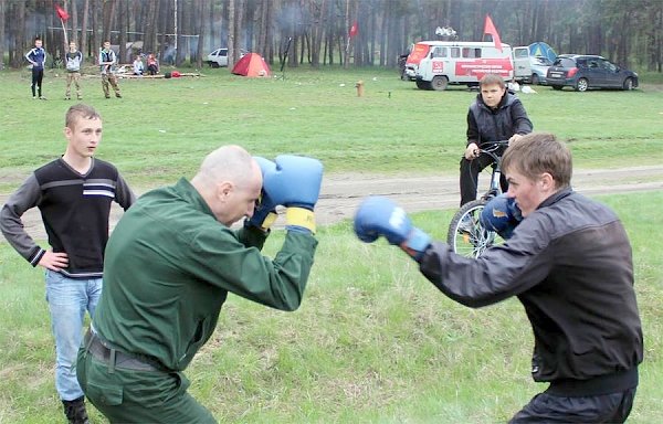
[[[108,372],[115,368],[134,371],[165,371],[165,368],[155,358],[143,354],[125,353],[109,347],[94,331],[87,330],[84,339],[85,351],[92,353],[97,360],[108,364]]]

